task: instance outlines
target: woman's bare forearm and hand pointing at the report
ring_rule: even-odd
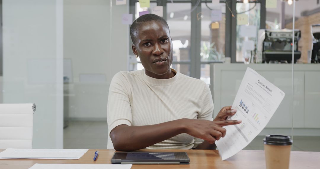
[[[178,134],[187,133],[206,140],[198,149],[212,149],[214,145],[209,143],[213,144],[226,134],[223,126],[240,123],[241,120],[210,121],[183,118],[156,125],[119,125],[111,131],[110,137],[116,150],[133,151],[149,147]]]

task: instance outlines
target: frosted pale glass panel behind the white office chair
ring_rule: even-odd
[[[33,148],[61,149],[62,1],[10,0],[0,4],[1,103],[35,103]]]

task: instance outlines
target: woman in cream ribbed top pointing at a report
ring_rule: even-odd
[[[241,123],[226,120],[236,110],[224,107],[213,120],[208,85],[170,68],[172,40],[163,18],[142,15],[130,34],[144,69],[119,72],[111,81],[107,118],[114,148],[216,149],[214,142],[226,134],[222,126]]]

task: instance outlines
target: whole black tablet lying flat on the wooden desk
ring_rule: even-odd
[[[112,164],[189,164],[186,152],[115,152]]]

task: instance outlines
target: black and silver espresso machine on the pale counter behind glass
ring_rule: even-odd
[[[257,57],[262,63],[292,63],[292,30],[260,29],[258,35]],[[300,38],[301,31],[294,30],[294,63],[301,57],[298,51]]]

